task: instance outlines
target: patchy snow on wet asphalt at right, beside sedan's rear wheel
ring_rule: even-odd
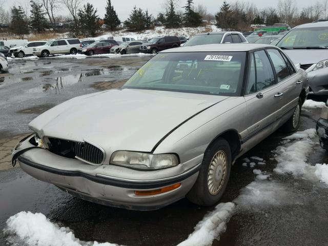
[[[296,132],[285,137],[282,145],[275,150],[275,159],[278,164],[274,172],[288,173],[311,181],[325,182],[328,185],[328,165],[311,166],[306,162],[308,155],[316,145],[312,140],[315,137],[315,129]]]

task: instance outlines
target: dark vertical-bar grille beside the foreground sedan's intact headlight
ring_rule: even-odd
[[[76,157],[93,164],[100,164],[104,159],[103,151],[88,142],[76,142],[74,152]]]

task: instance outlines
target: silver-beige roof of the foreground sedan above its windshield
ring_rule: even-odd
[[[160,53],[250,51],[250,50],[261,49],[261,48],[277,48],[277,47],[273,45],[263,45],[263,44],[212,44],[212,45],[182,46],[178,48],[163,50]]]

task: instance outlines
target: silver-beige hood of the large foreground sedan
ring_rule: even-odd
[[[105,150],[150,152],[174,128],[228,97],[115,89],[80,96],[29,124],[40,136],[88,141]]]

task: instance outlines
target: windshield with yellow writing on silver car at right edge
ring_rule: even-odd
[[[282,49],[325,49],[328,47],[328,27],[293,29],[280,40],[277,46]]]

